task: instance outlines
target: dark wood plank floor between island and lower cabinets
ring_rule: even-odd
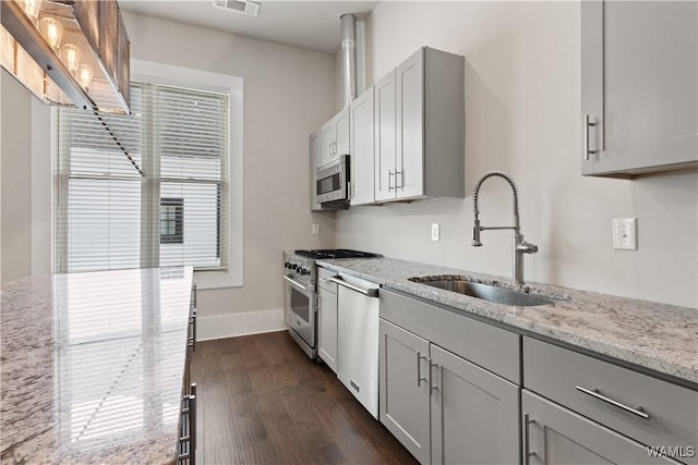
[[[417,463],[286,331],[196,344],[192,380],[200,463]]]

